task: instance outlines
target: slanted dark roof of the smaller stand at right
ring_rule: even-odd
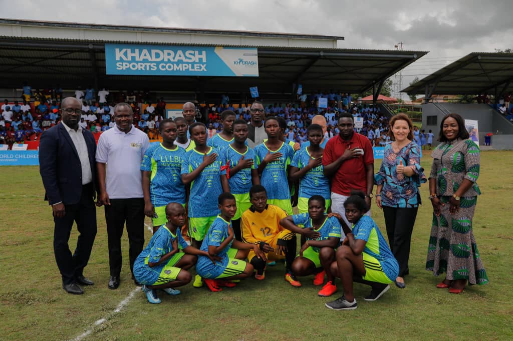
[[[478,95],[513,92],[513,53],[472,52],[403,89],[408,94]]]

